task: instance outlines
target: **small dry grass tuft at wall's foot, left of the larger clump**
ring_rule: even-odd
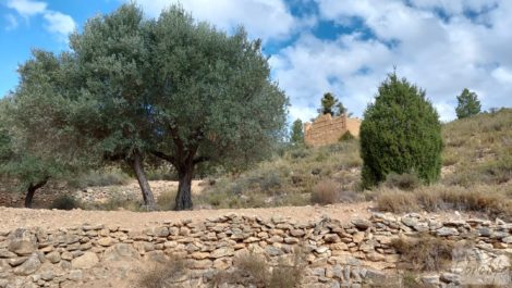
[[[156,262],[149,271],[144,273],[138,281],[143,288],[167,288],[173,287],[175,279],[183,277],[186,272],[186,262],[181,258]]]

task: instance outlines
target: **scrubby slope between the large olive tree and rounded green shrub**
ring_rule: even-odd
[[[320,148],[292,147],[253,170],[220,176],[196,202],[212,208],[333,203],[358,189],[361,165],[356,139]]]

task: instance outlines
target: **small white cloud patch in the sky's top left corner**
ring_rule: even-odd
[[[42,15],[45,20],[45,28],[65,41],[70,33],[76,28],[74,20],[64,13],[49,10],[46,2],[33,0],[9,0],[7,7],[13,9],[17,14],[28,21],[29,17]],[[8,14],[8,29],[17,27],[17,18],[13,14]]]

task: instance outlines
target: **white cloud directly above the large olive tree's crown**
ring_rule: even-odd
[[[253,38],[287,37],[300,24],[282,0],[136,0],[136,3],[149,16],[158,16],[162,9],[181,3],[196,20],[208,21],[224,30],[244,25]]]

